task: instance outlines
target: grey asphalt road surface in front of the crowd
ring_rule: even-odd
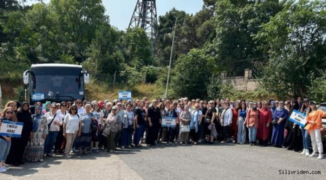
[[[279,174],[285,170],[321,174]],[[288,173],[288,172],[287,172]],[[0,179],[308,179],[326,178],[326,158],[248,144],[166,145],[118,150],[109,154],[57,155],[26,163]]]

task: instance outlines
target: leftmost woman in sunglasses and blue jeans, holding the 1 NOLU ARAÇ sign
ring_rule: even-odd
[[[13,119],[14,109],[6,107],[0,116],[0,128],[4,120],[14,121]],[[0,172],[6,172],[8,167],[5,166],[5,160],[9,154],[11,146],[11,137],[6,135],[0,135]]]

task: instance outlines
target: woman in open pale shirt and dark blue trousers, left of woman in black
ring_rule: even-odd
[[[122,136],[121,136],[121,148],[131,148],[131,136],[133,132],[133,120],[134,114],[131,111],[131,104],[127,103],[126,110],[124,110],[122,119]]]

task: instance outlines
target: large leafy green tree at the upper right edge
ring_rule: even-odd
[[[326,69],[326,2],[289,1],[255,38],[270,59],[262,64],[261,83],[269,91],[305,96],[311,79]]]

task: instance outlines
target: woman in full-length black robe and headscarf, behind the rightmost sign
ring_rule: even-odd
[[[292,101],[293,106],[290,108],[285,128],[287,129],[287,133],[284,139],[283,146],[287,147],[289,150],[300,151],[303,148],[302,144],[302,134],[298,124],[289,120],[289,117],[293,110],[299,110],[299,102],[297,100]]]

